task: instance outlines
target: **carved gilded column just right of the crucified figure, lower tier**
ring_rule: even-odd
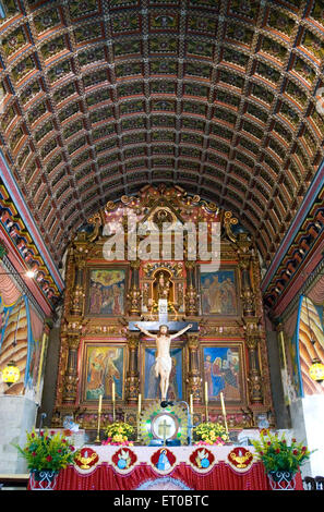
[[[188,332],[189,371],[188,371],[188,402],[193,395],[193,402],[200,405],[202,402],[202,376],[199,366],[200,339],[196,332]]]

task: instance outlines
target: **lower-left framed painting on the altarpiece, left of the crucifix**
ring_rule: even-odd
[[[115,344],[86,344],[84,351],[83,400],[112,399],[115,382],[116,400],[123,399],[124,346]]]

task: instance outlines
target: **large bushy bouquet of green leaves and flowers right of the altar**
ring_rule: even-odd
[[[267,473],[288,471],[295,474],[312,453],[302,442],[291,439],[288,443],[285,435],[279,438],[268,430],[261,430],[260,440],[251,439],[251,442]]]

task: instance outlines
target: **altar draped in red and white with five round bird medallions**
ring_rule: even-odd
[[[271,490],[253,447],[87,446],[57,490]],[[302,490],[297,475],[296,490]]]

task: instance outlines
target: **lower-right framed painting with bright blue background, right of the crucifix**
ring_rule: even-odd
[[[208,401],[220,402],[220,392],[223,392],[227,402],[242,402],[244,390],[241,346],[238,344],[203,346],[202,361]]]

